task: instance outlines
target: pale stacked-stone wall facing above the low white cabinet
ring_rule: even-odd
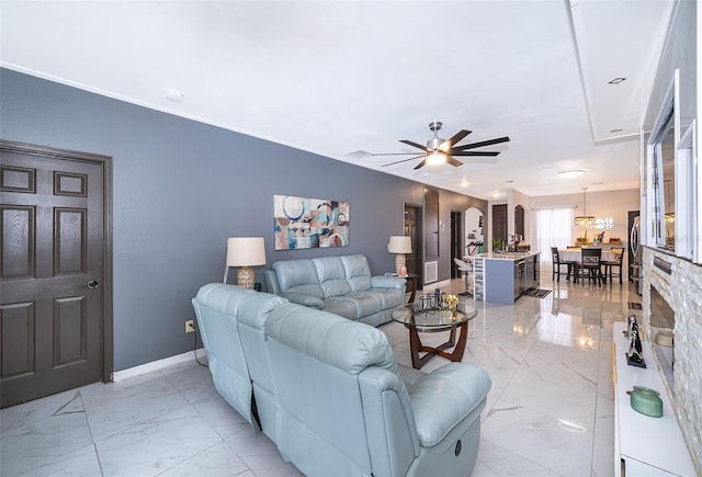
[[[654,257],[670,263],[672,273],[668,275],[655,266]],[[655,337],[650,327],[650,285],[676,314],[675,384],[672,393],[667,391],[697,472],[702,475],[702,266],[649,248],[643,249],[643,318],[647,339]],[[654,359],[660,371],[660,363]]]

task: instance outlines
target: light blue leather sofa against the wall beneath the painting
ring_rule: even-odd
[[[290,302],[373,326],[405,304],[405,279],[372,276],[362,254],[279,261],[265,271],[265,282]]]

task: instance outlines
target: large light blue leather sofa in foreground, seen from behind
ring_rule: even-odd
[[[315,476],[468,476],[488,374],[398,365],[375,327],[234,285],[193,298],[215,387]]]

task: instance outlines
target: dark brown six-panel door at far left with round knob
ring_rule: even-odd
[[[98,382],[109,367],[107,162],[0,146],[0,406],[7,407]]]

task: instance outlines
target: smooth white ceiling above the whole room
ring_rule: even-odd
[[[492,200],[638,188],[671,0],[9,1],[4,67]],[[621,84],[609,84],[623,77]],[[166,99],[178,89],[183,101]],[[383,168],[424,144],[491,163]],[[621,129],[611,133],[612,129]],[[251,158],[254,160],[256,158]],[[585,168],[578,179],[555,172]]]

